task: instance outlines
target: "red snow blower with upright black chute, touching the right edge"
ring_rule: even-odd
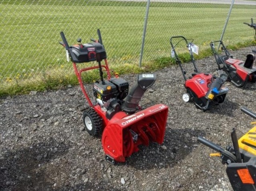
[[[220,55],[215,45],[221,45],[224,55]],[[253,66],[254,54],[248,54],[245,62],[234,59],[222,41],[210,43],[211,50],[218,66],[219,76],[225,81],[231,81],[236,87],[243,87],[247,82],[256,82],[256,67]]]

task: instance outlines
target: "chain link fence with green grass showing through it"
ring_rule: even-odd
[[[194,38],[200,50],[219,40],[232,0],[151,0],[142,63],[170,57],[171,36]],[[97,38],[101,30],[110,68],[139,64],[147,0],[1,0],[0,90],[34,87],[49,76],[61,83],[74,75],[59,45]],[[244,25],[254,18],[256,0],[235,0],[223,41],[235,45],[254,39]],[[118,65],[119,64],[119,65]],[[131,71],[132,72],[132,71]],[[25,84],[25,85],[24,85]],[[33,89],[33,88],[32,88]]]

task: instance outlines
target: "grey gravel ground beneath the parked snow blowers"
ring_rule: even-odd
[[[231,53],[244,60],[251,49]],[[197,65],[202,72],[216,72],[214,57]],[[240,108],[256,111],[256,85],[239,89],[228,82],[225,102],[202,112],[182,101],[184,81],[177,66],[155,73],[157,81],[141,105],[169,107],[164,142],[141,146],[115,166],[105,161],[101,139],[84,130],[79,86],[1,98],[0,190],[231,191],[221,160],[210,158],[213,151],[196,139],[202,135],[226,147],[233,127],[238,137],[246,133],[253,119]],[[130,85],[136,81],[135,75],[121,77]]]

